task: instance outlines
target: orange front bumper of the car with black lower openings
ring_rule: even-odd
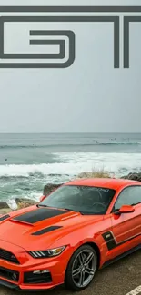
[[[55,258],[34,259],[24,249],[5,241],[0,241],[0,248],[14,253],[19,261],[15,264],[0,259],[0,285],[15,290],[50,290],[64,284],[67,251]]]

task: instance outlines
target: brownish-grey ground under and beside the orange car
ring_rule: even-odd
[[[140,291],[131,292],[138,286],[141,286],[141,251],[126,257],[125,259],[106,267],[106,269],[99,270],[96,278],[89,288],[78,292],[81,295],[136,295],[141,294]],[[56,288],[47,292],[15,292],[14,290],[7,290],[0,287],[0,295],[72,295],[74,293],[66,291],[64,287]]]

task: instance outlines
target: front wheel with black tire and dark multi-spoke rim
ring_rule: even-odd
[[[85,258],[87,255],[87,260]],[[85,265],[88,261],[88,258],[91,261],[89,262],[88,267]],[[82,263],[81,263],[82,261]],[[79,267],[80,262],[80,267]],[[91,267],[92,265],[92,267]],[[75,267],[76,266],[76,267]],[[80,269],[80,270],[79,270]],[[85,270],[84,270],[85,269]],[[90,271],[91,270],[91,271]],[[97,270],[97,255],[96,251],[90,245],[84,245],[78,248],[73,256],[71,257],[70,261],[68,262],[67,269],[65,272],[65,287],[67,290],[85,290],[90,283],[93,281]],[[78,273],[79,271],[79,273]],[[90,272],[88,275],[88,271]],[[79,278],[80,276],[80,278]],[[89,276],[89,277],[87,277]],[[84,278],[87,279],[85,280]],[[80,279],[80,280],[79,280]],[[84,283],[83,282],[84,279]]]

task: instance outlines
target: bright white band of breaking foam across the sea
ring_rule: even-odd
[[[116,174],[141,170],[141,153],[62,152],[55,153],[55,156],[59,158],[59,162],[0,165],[0,177],[28,177],[35,173],[45,176],[50,174],[73,176],[92,169],[106,169]]]

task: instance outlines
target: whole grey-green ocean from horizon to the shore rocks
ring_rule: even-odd
[[[47,183],[105,169],[141,172],[141,133],[0,133],[0,201],[39,200]]]

